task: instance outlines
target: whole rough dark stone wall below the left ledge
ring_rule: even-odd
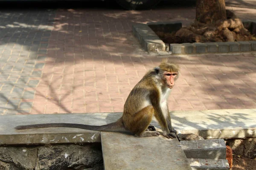
[[[0,170],[103,169],[100,144],[0,147]]]

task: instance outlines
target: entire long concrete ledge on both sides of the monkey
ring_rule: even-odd
[[[15,130],[14,127],[49,122],[105,125],[115,122],[121,116],[122,113],[0,116],[0,144],[101,142],[100,132],[90,130],[66,127]],[[172,125],[178,133],[195,133],[204,139],[256,137],[256,109],[173,111],[171,117]],[[155,118],[151,124],[160,128]]]

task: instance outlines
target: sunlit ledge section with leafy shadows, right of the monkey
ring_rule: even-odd
[[[195,133],[204,139],[256,137],[256,109],[173,111],[171,116],[178,133]]]

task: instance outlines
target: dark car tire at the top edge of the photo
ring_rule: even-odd
[[[128,10],[147,10],[152,9],[161,0],[116,0],[116,2]]]

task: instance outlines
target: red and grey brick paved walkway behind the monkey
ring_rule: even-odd
[[[256,17],[254,8],[227,8]],[[143,51],[132,25],[188,25],[194,17],[193,6],[1,11],[0,113],[122,112],[131,88],[163,57]],[[181,71],[170,110],[256,108],[255,54],[172,59]]]

